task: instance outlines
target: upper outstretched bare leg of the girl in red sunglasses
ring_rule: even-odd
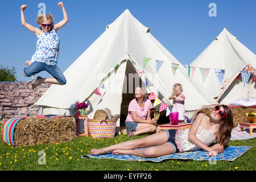
[[[93,148],[90,153],[92,155],[100,155],[107,154],[108,152],[112,152],[115,150],[131,150],[134,148],[145,148],[152,146],[159,146],[167,142],[167,134],[166,132],[159,132],[152,135],[149,135],[144,138],[129,140],[126,142],[114,144],[113,146],[104,147],[104,148]]]

